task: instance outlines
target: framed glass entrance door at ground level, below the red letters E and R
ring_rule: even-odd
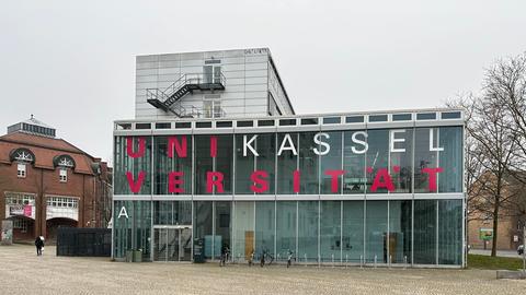
[[[153,226],[153,261],[191,261],[192,226]]]

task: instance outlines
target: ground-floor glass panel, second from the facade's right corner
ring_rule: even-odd
[[[436,200],[414,201],[414,263],[436,263]]]

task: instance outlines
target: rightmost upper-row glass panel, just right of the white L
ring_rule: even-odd
[[[438,192],[462,191],[462,128],[441,127],[439,142],[444,151],[438,152],[439,167],[437,175]]]

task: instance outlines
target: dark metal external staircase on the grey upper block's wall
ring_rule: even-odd
[[[225,90],[226,79],[222,73],[198,73],[183,74],[178,81],[173,82],[165,90],[147,88],[147,102],[164,111],[170,111],[178,117],[199,116],[199,110],[195,107],[183,107],[178,103],[182,97],[194,91],[216,91]]]

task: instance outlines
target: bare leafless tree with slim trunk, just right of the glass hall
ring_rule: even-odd
[[[511,168],[519,162],[516,153],[517,133],[508,128],[511,125],[513,118],[491,92],[483,93],[481,98],[473,101],[471,118],[466,129],[474,141],[476,163],[480,165],[482,174],[473,182],[478,191],[477,201],[471,204],[493,221],[492,256],[496,256],[499,220],[507,214],[503,209],[516,199],[516,190],[507,180]]]

